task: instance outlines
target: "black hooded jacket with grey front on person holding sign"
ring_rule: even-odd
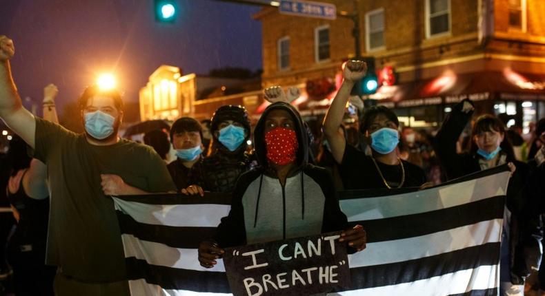
[[[264,120],[272,109],[284,109],[296,125],[297,166],[281,186],[268,166]],[[308,142],[299,113],[286,103],[270,105],[254,131],[259,167],[244,173],[232,194],[228,217],[221,219],[214,239],[221,247],[317,235],[347,228],[335,187],[325,169],[308,164]]]

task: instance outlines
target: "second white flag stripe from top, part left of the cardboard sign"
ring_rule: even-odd
[[[213,268],[204,268],[199,264],[197,249],[177,249],[158,242],[139,240],[130,234],[121,235],[125,257],[146,260],[148,264],[173,268],[190,269],[192,271],[217,271],[224,273],[224,260],[217,260]]]

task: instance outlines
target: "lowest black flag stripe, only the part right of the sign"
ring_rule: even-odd
[[[463,237],[454,239],[457,238],[463,239]],[[399,251],[403,251],[403,246],[399,246]],[[415,282],[479,266],[498,264],[499,242],[490,242],[416,260],[350,268],[352,286],[347,290]]]

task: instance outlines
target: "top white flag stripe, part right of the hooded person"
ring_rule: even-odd
[[[506,171],[492,178],[486,176],[399,195],[340,200],[340,205],[349,222],[426,213],[504,195],[509,174]]]

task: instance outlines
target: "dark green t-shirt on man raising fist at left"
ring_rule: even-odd
[[[163,160],[151,147],[125,139],[91,145],[84,134],[41,118],[34,157],[48,165],[51,191],[46,263],[81,282],[126,279],[119,224],[100,174],[121,176],[148,192],[176,190]]]

